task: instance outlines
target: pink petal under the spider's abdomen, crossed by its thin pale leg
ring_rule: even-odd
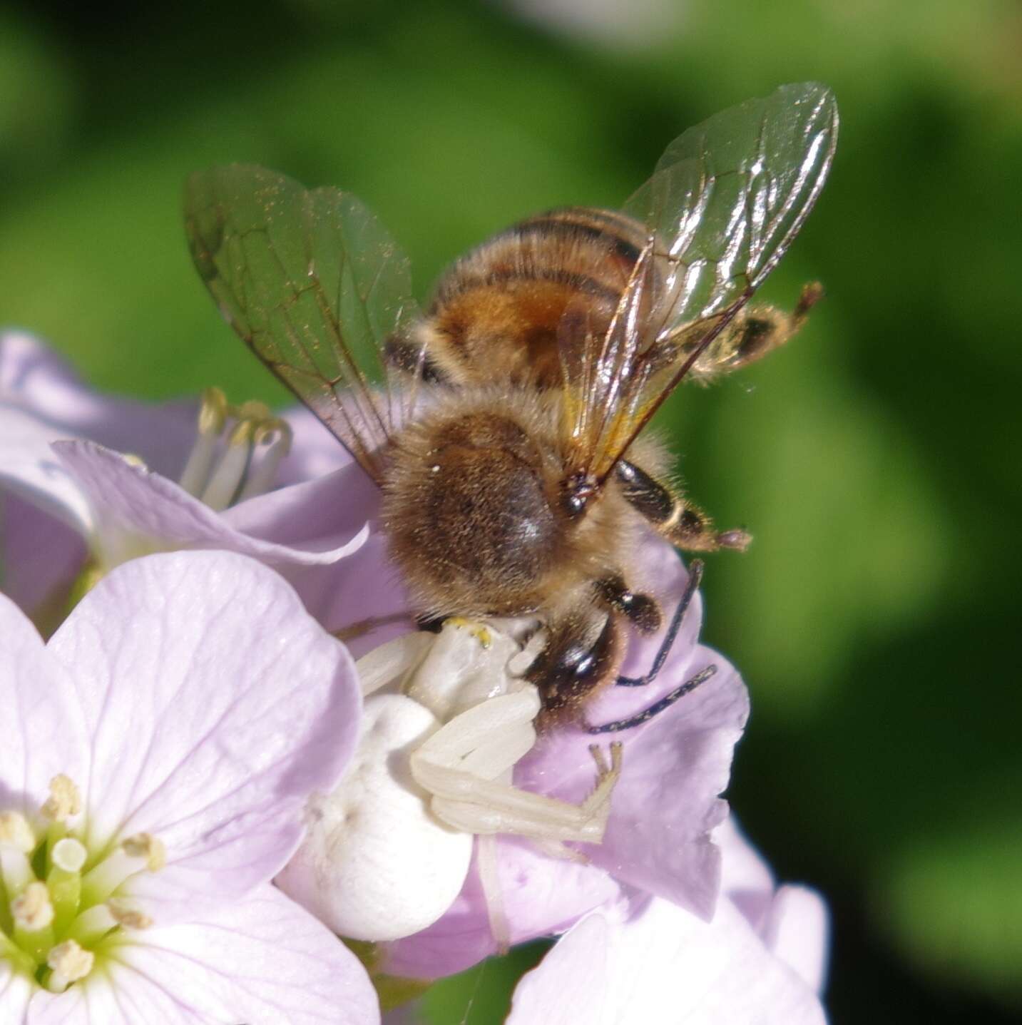
[[[563,932],[592,908],[621,899],[621,888],[606,872],[548,858],[523,840],[498,842],[497,870],[513,945]],[[478,868],[439,921],[381,947],[384,971],[417,979],[463,972],[496,953]]]

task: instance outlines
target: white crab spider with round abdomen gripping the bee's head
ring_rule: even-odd
[[[620,771],[594,748],[596,785],[579,805],[512,785],[536,742],[540,700],[522,675],[541,638],[531,623],[449,620],[407,633],[358,663],[365,704],[358,751],[338,787],[310,805],[309,832],[278,885],[341,936],[381,941],[436,921],[464,883],[473,837],[491,920],[502,915],[496,833],[579,858],[566,842],[598,844]]]

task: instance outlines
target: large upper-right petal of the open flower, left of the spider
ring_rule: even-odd
[[[273,876],[300,810],[354,750],[361,693],[346,650],[276,573],[224,551],[133,560],[50,642],[92,736],[89,840],[150,832],[167,865],[127,892],[188,918]]]

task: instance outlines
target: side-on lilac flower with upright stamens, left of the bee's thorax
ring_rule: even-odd
[[[86,554],[101,574],[153,551],[221,548],[288,574],[324,618],[343,614],[333,571],[369,538],[375,487],[304,411],[255,443],[237,424],[195,404],[96,395],[35,338],[0,335],[0,587],[35,612]],[[386,599],[400,603],[396,584]]]

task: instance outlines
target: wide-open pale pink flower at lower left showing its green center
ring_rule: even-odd
[[[378,1021],[269,881],[360,708],[343,646],[238,555],[127,563],[45,646],[0,597],[4,1022]]]

